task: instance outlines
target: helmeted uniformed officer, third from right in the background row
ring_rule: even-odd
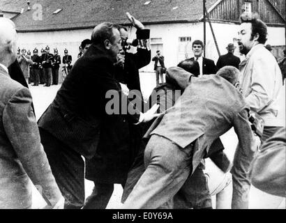
[[[50,47],[45,47],[45,53],[42,54],[42,65],[44,70],[44,86],[51,86],[52,84],[52,63],[54,62],[54,55],[50,54]]]

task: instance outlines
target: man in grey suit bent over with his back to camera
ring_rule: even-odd
[[[150,133],[144,152],[146,170],[121,208],[158,208],[180,189],[188,190],[184,187],[188,176],[212,153],[213,141],[232,127],[241,145],[232,174],[246,178],[257,149],[255,136],[239,91],[239,70],[223,69],[217,75],[191,77],[181,98]],[[186,71],[176,67],[169,72]]]

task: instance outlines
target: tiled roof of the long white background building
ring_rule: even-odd
[[[126,12],[144,24],[167,22],[195,22],[202,17],[202,0],[38,0],[43,7],[43,20],[35,20],[36,11],[27,10],[27,1],[1,0],[0,9],[11,9],[15,4],[24,13],[13,18],[18,31],[47,31],[91,28],[100,22],[128,24]],[[206,0],[209,9],[218,0]],[[8,6],[10,5],[10,6]],[[10,7],[10,8],[9,8]],[[53,14],[59,8],[62,10]],[[15,8],[14,8],[15,10]]]

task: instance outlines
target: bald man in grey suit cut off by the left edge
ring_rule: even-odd
[[[45,208],[63,208],[64,199],[40,144],[31,93],[8,74],[16,53],[15,24],[0,18],[0,209],[31,208],[29,178],[47,202]]]

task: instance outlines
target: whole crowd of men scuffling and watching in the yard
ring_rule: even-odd
[[[232,194],[220,199],[231,208],[248,208],[252,180],[285,196],[285,127],[277,118],[283,84],[264,47],[266,24],[255,14],[241,15],[241,63],[229,44],[216,66],[195,40],[194,57],[168,68],[166,83],[144,102],[138,70],[151,61],[150,31],[126,15],[137,29],[136,44],[126,27],[98,24],[38,123],[22,63],[31,64],[36,83],[43,67],[50,86],[57,83],[60,56],[46,47],[41,56],[35,49],[29,59],[22,50],[17,59],[15,24],[0,18],[0,208],[31,208],[29,178],[45,208],[106,208],[114,183],[123,187],[118,208],[212,208],[211,184],[220,178],[214,193],[232,182]],[[159,58],[154,61],[162,66]],[[230,128],[239,139],[234,160],[220,141]],[[207,157],[218,168],[209,177]],[[84,178],[94,183],[86,200]]]

